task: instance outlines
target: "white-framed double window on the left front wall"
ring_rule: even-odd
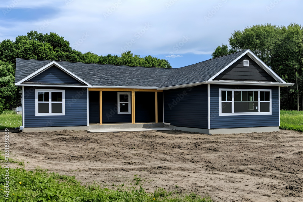
[[[36,116],[64,116],[65,90],[36,89]]]

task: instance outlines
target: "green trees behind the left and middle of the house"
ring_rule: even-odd
[[[35,60],[56,60],[110,65],[171,68],[165,59],[151,55],[140,57],[126,51],[118,55],[97,55],[90,51],[82,53],[74,50],[70,43],[54,32],[49,34],[30,31],[0,43],[0,113],[20,106],[20,87],[15,86],[16,58]]]

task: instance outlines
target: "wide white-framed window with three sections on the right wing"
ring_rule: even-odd
[[[271,114],[271,90],[219,89],[219,115]]]

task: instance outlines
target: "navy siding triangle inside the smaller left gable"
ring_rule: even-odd
[[[31,78],[27,82],[82,84],[82,82],[68,75],[55,65]]]

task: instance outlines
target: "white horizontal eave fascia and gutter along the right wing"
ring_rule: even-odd
[[[176,86],[168,86],[168,87],[161,87],[157,88],[157,90],[170,90],[170,89],[176,89],[176,88],[186,88],[186,87],[192,87],[202,84],[224,84],[224,85],[261,85],[261,86],[292,86],[293,83],[270,83],[270,82],[248,82],[248,81],[203,81],[203,82],[197,82],[197,83],[191,83],[191,84],[182,84],[182,85],[176,85]]]

